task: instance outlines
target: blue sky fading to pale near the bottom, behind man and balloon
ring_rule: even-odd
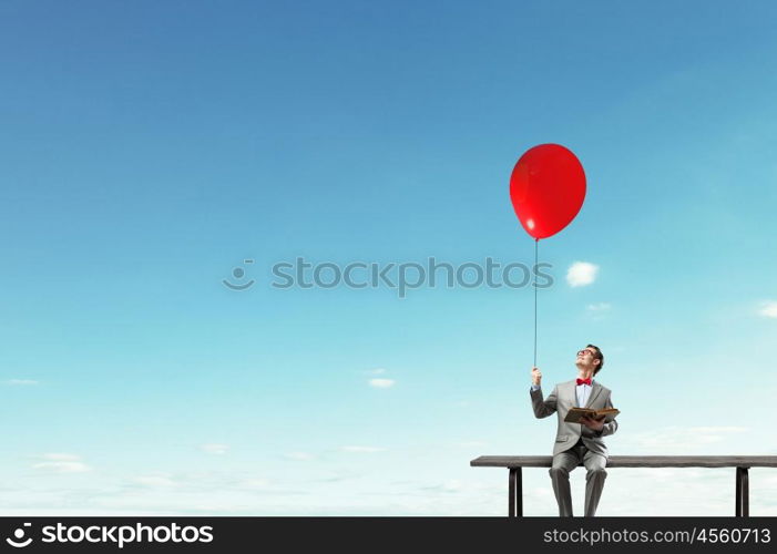
[[[544,142],[589,184],[540,243],[545,380],[594,342],[613,454],[776,453],[776,12],[3,2],[0,511],[501,514],[507,474],[469,460],[554,433],[532,290],[279,290],[270,267],[529,264],[508,179]],[[637,505],[613,471],[601,513],[728,514],[733,474],[693,473]],[[752,482],[777,514],[774,472]],[[544,472],[525,489],[555,512]]]

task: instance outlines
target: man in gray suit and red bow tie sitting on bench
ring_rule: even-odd
[[[594,345],[587,345],[577,352],[575,360],[577,366],[577,379],[556,384],[553,392],[546,399],[542,399],[542,372],[539,368],[532,368],[531,400],[534,416],[546,418],[552,413],[559,414],[559,431],[553,447],[553,465],[550,474],[553,483],[553,492],[559,503],[559,515],[572,516],[572,494],[570,492],[570,471],[583,462],[587,474],[585,475],[585,515],[593,516],[596,513],[599,499],[604,488],[604,479],[607,472],[607,447],[603,437],[613,434],[617,430],[617,421],[604,423],[601,420],[583,418],[581,423],[566,423],[564,418],[572,407],[591,408],[601,410],[612,408],[610,389],[593,381],[593,376],[599,373],[604,366],[604,355]]]

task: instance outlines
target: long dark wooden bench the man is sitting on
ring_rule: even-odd
[[[550,468],[550,455],[481,455],[470,462],[472,468],[507,468],[508,515],[523,515],[522,468]],[[582,465],[582,463],[580,464]],[[737,517],[749,515],[750,468],[777,468],[777,455],[613,455],[607,459],[611,468],[736,468],[736,493],[734,499]],[[549,485],[550,486],[550,485]]]

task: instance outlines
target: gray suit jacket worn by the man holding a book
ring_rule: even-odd
[[[554,412],[559,414],[559,430],[555,434],[553,455],[574,447],[577,439],[582,435],[583,443],[591,452],[602,454],[606,458],[607,447],[604,444],[602,437],[613,434],[617,430],[617,421],[613,420],[610,423],[604,423],[601,431],[594,431],[581,423],[566,423],[564,421],[566,412],[570,411],[570,408],[577,406],[575,387],[575,381],[559,383],[553,388],[553,392],[551,392],[545,400],[542,399],[542,389],[530,391],[534,416],[538,418],[546,418]],[[591,394],[589,396],[589,402],[584,408],[601,410],[602,408],[612,407],[610,389],[594,381]]]

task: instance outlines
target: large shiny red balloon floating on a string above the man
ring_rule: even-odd
[[[548,238],[566,227],[585,199],[585,172],[560,144],[529,148],[510,176],[510,198],[523,228]]]

